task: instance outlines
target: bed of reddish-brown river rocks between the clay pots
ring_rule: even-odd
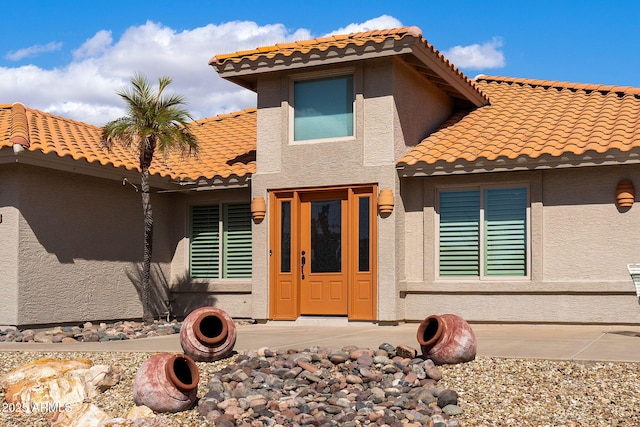
[[[212,374],[198,412],[229,426],[460,425],[457,393],[427,378],[434,365],[414,352],[390,344],[249,351]]]

